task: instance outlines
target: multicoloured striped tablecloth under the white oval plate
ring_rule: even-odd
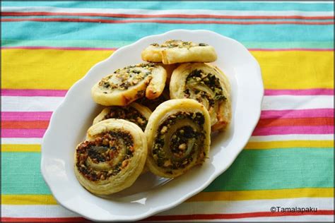
[[[172,29],[213,30],[245,44],[261,66],[265,97],[257,128],[228,171],[148,220],[334,220],[333,8],[1,2],[1,221],[83,220],[57,205],[40,174],[52,111],[118,47]]]

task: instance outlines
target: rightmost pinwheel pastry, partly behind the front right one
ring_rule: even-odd
[[[192,98],[204,104],[212,131],[223,131],[231,119],[230,84],[217,67],[203,63],[182,64],[173,71],[170,97]]]

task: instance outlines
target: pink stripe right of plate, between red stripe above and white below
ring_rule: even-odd
[[[252,135],[333,134],[334,126],[276,126],[256,128]]]

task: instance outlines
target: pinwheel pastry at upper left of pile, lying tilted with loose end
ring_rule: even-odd
[[[92,97],[98,104],[127,105],[143,97],[155,99],[163,92],[166,71],[153,63],[136,64],[117,69],[102,78],[92,88]]]

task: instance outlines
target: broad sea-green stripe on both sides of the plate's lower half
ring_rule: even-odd
[[[3,194],[49,194],[40,175],[40,153],[3,152]],[[205,191],[334,186],[334,149],[243,150]]]

